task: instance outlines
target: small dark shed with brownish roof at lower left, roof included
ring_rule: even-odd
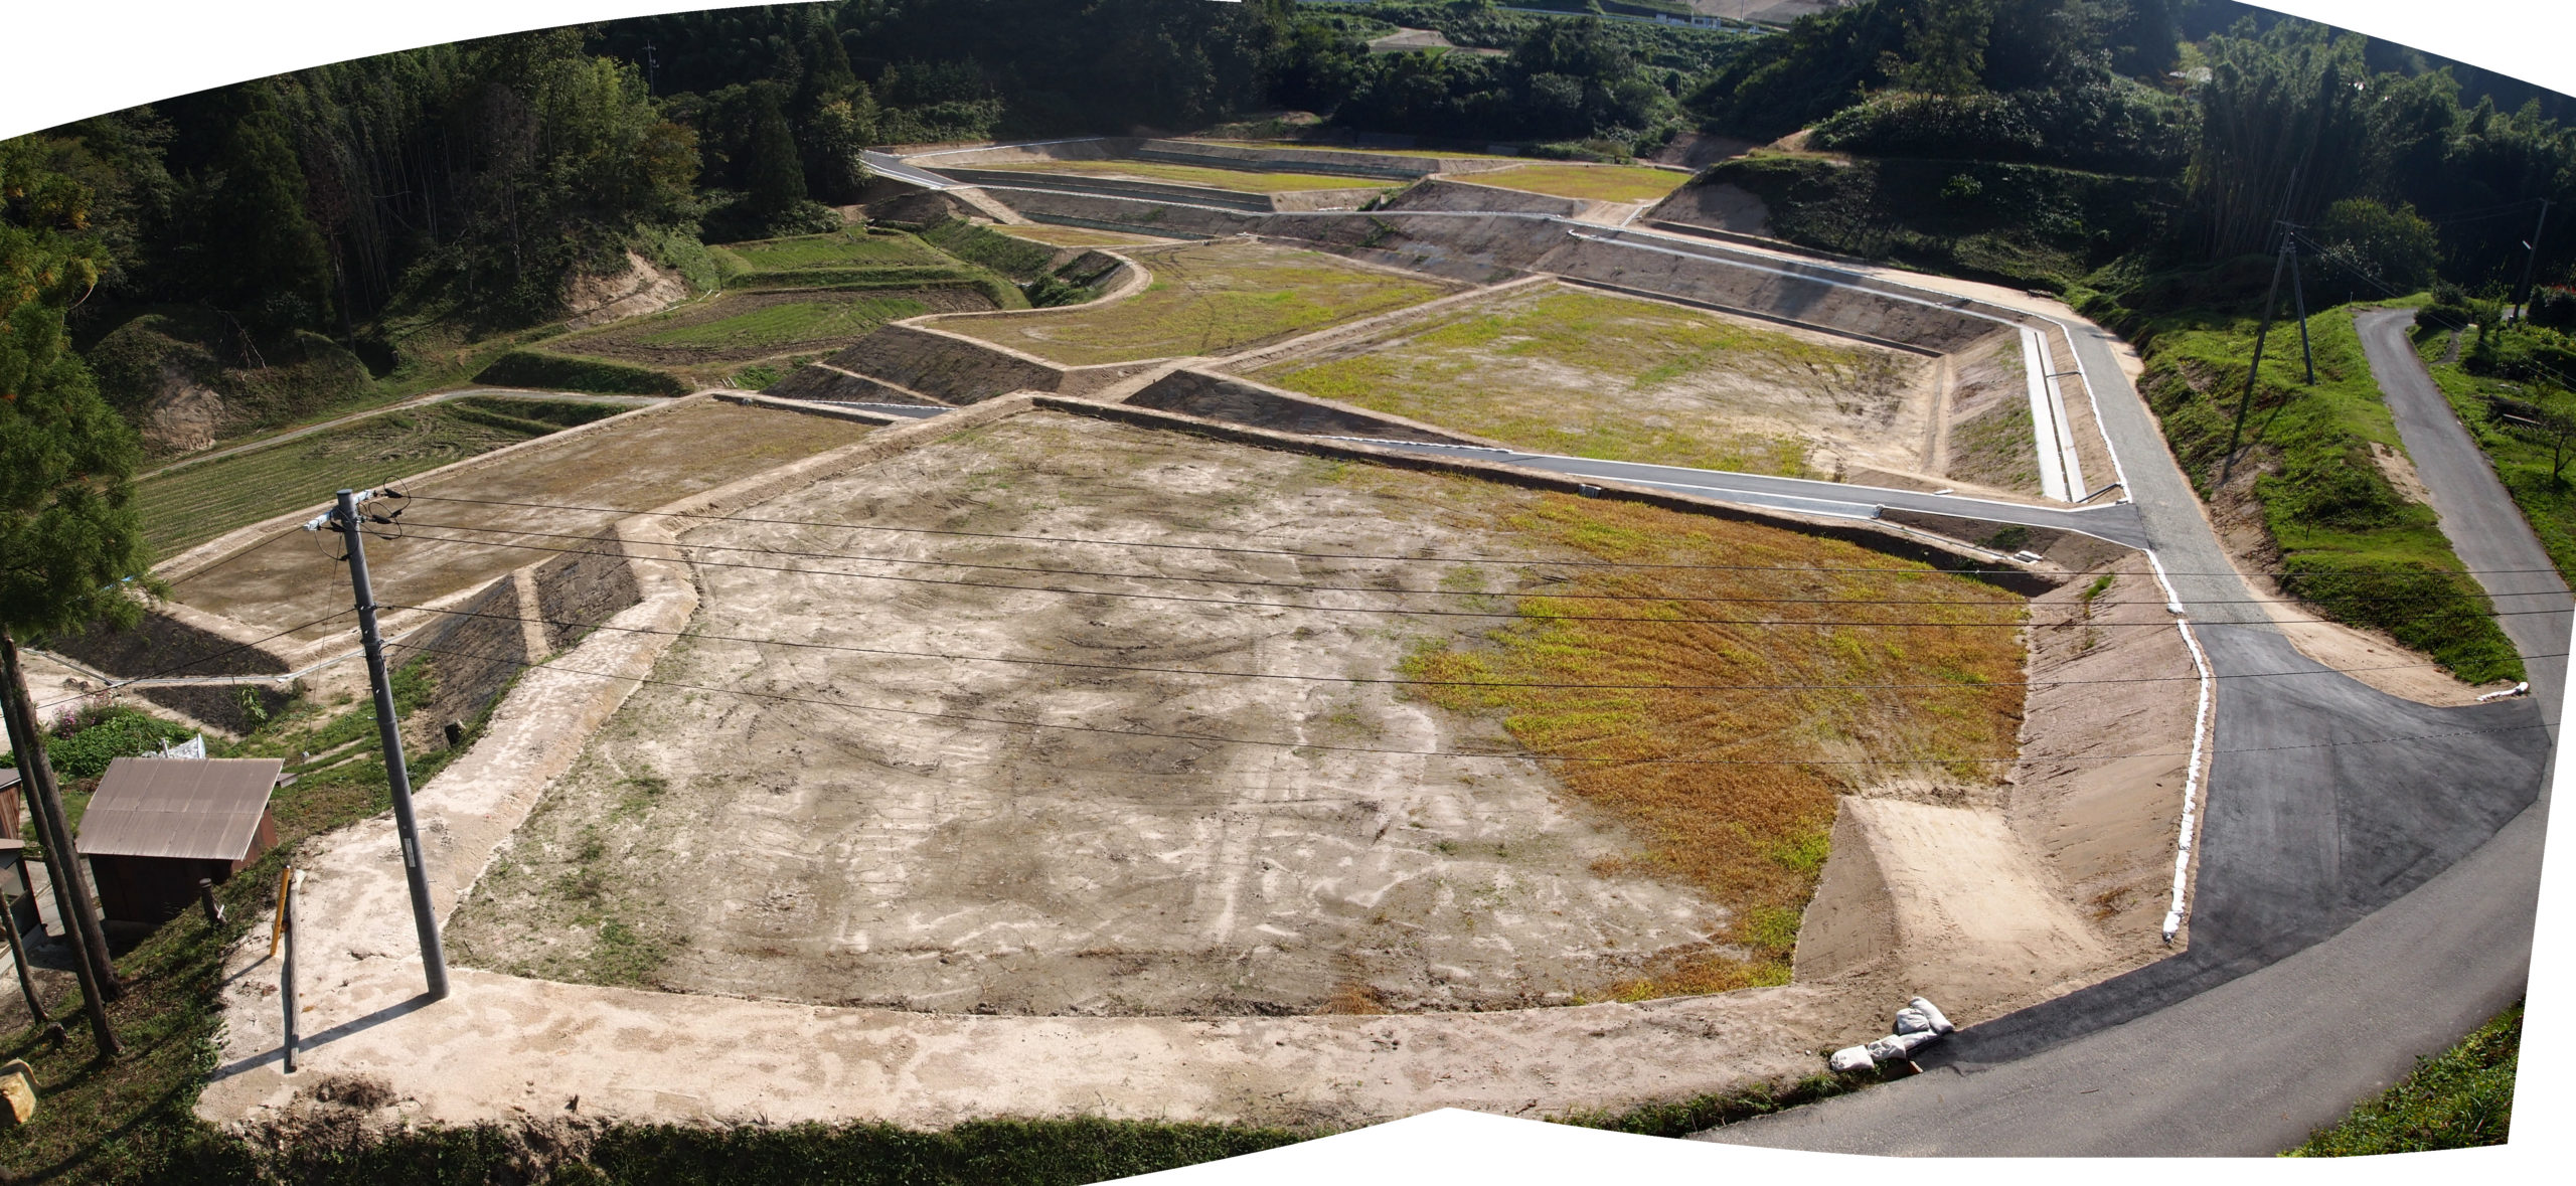
[[[162,924],[196,903],[198,877],[229,880],[278,846],[268,795],[281,759],[116,759],[80,816],[98,913]]]

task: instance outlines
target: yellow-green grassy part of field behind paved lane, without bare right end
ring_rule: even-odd
[[[1533,453],[1808,476],[1798,437],[1741,432],[1723,404],[1659,391],[1726,373],[1857,376],[1878,360],[1574,288],[1479,304],[1404,332],[1355,358],[1288,360],[1257,378]]]

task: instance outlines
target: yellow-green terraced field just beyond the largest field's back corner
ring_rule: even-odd
[[[1136,296],[1020,316],[961,316],[938,327],[1066,365],[1095,365],[1224,355],[1445,293],[1324,252],[1239,239],[1131,255],[1154,275]]]

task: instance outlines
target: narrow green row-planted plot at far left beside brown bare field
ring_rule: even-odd
[[[381,486],[544,437],[564,427],[562,422],[577,424],[618,412],[626,409],[569,399],[456,399],[384,412],[330,432],[157,473],[137,484],[134,502],[142,509],[144,540],[155,556],[167,558],[247,522],[325,502],[343,486]]]

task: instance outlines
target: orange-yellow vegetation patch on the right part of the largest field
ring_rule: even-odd
[[[1986,762],[2014,751],[2022,720],[2012,628],[2022,612],[2002,589],[1850,543],[1631,502],[1551,494],[1510,527],[1646,569],[1577,569],[1561,589],[1522,597],[1520,617],[1481,646],[1427,646],[1404,674],[1445,682],[1422,692],[1440,707],[1502,715],[1522,746],[1553,759],[1566,790],[1623,818],[1643,852],[1620,867],[1690,882],[1734,911],[1721,944],[1613,985],[1610,998],[1788,983],[1839,792],[1878,777],[1986,785],[2009,764]],[[1574,617],[1605,605],[1623,617]],[[1757,617],[1752,605],[1780,610],[1741,625],[1672,620]],[[1801,617],[1832,625],[1793,625]],[[1873,617],[1955,628],[1860,625]],[[1909,756],[1929,762],[1868,764]]]

